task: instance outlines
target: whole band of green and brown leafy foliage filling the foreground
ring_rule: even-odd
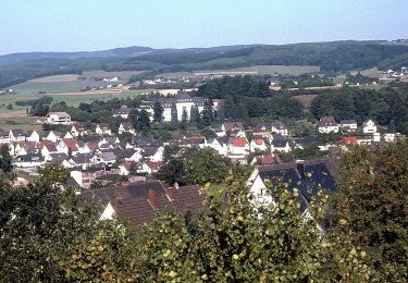
[[[318,192],[312,218],[300,213],[296,188],[269,183],[279,202],[262,206],[233,170],[203,186],[202,213],[161,213],[136,230],[78,206],[73,189],[61,189],[67,172],[58,167],[27,187],[2,179],[0,274],[8,282],[404,282],[407,149],[400,142],[346,153],[336,198]],[[327,212],[332,226],[322,232]]]

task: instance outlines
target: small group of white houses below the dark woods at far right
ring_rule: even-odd
[[[355,120],[342,120],[339,123],[333,116],[322,116],[317,123],[319,133],[331,134],[331,133],[356,133],[359,130]],[[381,134],[378,131],[378,126],[372,120],[366,121],[361,126],[362,134],[359,137],[353,137],[349,140],[356,140],[357,145],[371,145],[376,143],[388,143],[394,142],[396,138],[400,138],[400,134],[384,133]]]

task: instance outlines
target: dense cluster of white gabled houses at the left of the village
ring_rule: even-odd
[[[119,132],[135,134],[132,124],[126,122],[120,125]],[[47,163],[62,164],[72,170],[71,174],[83,187],[89,187],[101,175],[128,175],[131,171],[133,174],[151,174],[163,163],[163,146],[148,137],[134,135],[131,142],[121,142],[112,135],[107,123],[96,126],[99,138],[82,139],[89,133],[90,130],[81,123],[72,125],[71,131],[62,135],[53,131],[39,134],[36,131],[0,130],[0,146],[9,147],[15,168],[34,171]],[[113,164],[115,169],[112,169]]]

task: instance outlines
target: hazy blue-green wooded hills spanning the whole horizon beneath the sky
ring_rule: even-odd
[[[317,65],[337,73],[408,64],[406,42],[366,40],[293,45],[239,45],[211,48],[127,47],[91,52],[28,52],[0,56],[0,88],[30,78],[81,74],[88,70],[160,73],[226,70],[255,65]]]

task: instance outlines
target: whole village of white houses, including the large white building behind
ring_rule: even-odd
[[[177,120],[191,118],[191,109],[201,113],[208,99],[188,95],[174,98],[153,98],[141,101],[140,109],[149,113],[153,120],[154,103],[163,107],[162,123],[170,122],[172,112],[176,111]],[[218,109],[222,102],[212,101]],[[188,110],[187,110],[188,109]],[[385,133],[378,130],[372,120],[361,126],[355,120],[335,121],[333,116],[322,116],[316,124],[316,131],[322,135],[337,134],[338,140],[322,142],[312,138],[293,138],[283,122],[274,121],[272,126],[264,123],[246,127],[243,122],[224,122],[218,128],[209,127],[215,135],[206,138],[202,135],[177,135],[160,143],[151,137],[143,136],[126,119],[129,108],[112,110],[112,116],[120,116],[123,122],[119,128],[110,128],[108,123],[98,123],[87,128],[84,123],[71,120],[66,112],[50,112],[44,123],[65,125],[66,133],[55,131],[36,131],[24,133],[22,130],[4,132],[0,130],[0,144],[8,146],[13,157],[15,171],[36,175],[38,168],[47,164],[61,164],[71,170],[72,181],[79,187],[89,188],[94,183],[108,185],[110,182],[133,183],[151,179],[164,163],[163,155],[166,146],[177,145],[180,148],[212,148],[220,156],[231,159],[234,163],[251,165],[272,165],[285,163],[282,155],[311,145],[319,150],[330,152],[334,149],[347,150],[354,145],[381,145],[403,138],[403,135]],[[118,133],[118,134],[115,134]],[[358,134],[357,134],[358,133]],[[131,139],[121,140],[126,134]],[[86,137],[94,137],[91,140]],[[27,182],[27,181],[26,181]]]

